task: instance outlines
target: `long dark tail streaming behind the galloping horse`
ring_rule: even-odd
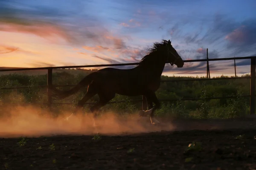
[[[71,88],[68,91],[61,91],[61,90],[56,89],[55,87],[52,87],[51,91],[54,94],[51,94],[51,96],[55,97],[57,99],[64,99],[64,98],[67,98],[68,96],[71,96],[72,94],[75,94],[76,92],[78,92],[80,90],[80,88],[82,88],[86,85],[89,85],[93,81],[94,74],[95,73],[91,73],[91,74],[87,75],[76,86],[74,86],[73,88]]]

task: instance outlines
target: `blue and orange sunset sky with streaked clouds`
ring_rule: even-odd
[[[171,40],[182,59],[256,56],[255,0],[0,0],[0,67],[139,62]],[[234,75],[234,62],[209,62]],[[250,60],[237,60],[237,74]],[[122,69],[134,66],[118,67]],[[206,62],[163,75],[206,75]]]

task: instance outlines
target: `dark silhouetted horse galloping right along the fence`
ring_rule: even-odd
[[[162,40],[161,43],[155,42],[152,48],[148,49],[148,54],[141,59],[139,65],[135,68],[100,69],[84,77],[75,87],[68,91],[52,88],[52,96],[64,99],[78,92],[80,88],[87,86],[87,93],[78,102],[76,111],[81,109],[91,97],[98,94],[99,102],[90,108],[95,118],[99,109],[113,99],[115,94],[125,96],[144,95],[147,100],[148,110],[140,111],[140,116],[150,115],[151,123],[155,124],[158,121],[156,119],[153,121],[152,119],[154,111],[160,108],[160,102],[155,91],[160,87],[160,77],[166,62],[171,65],[175,64],[178,68],[184,65],[183,59],[172,47],[170,40]],[[154,107],[153,103],[155,104]]]

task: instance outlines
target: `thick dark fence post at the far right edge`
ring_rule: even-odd
[[[250,70],[250,114],[255,114],[255,67],[256,58],[251,58],[251,70]]]

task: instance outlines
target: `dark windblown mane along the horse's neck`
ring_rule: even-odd
[[[154,53],[155,51],[157,51],[157,49],[159,47],[162,47],[164,45],[168,44],[168,41],[167,40],[162,40],[160,43],[159,42],[154,42],[154,44],[152,45],[151,48],[148,49],[148,53],[147,55],[145,55],[141,60],[140,60],[140,64],[139,65],[142,65],[144,63],[147,63],[147,62],[154,62],[154,60],[156,59],[155,57],[152,57],[152,53]]]

